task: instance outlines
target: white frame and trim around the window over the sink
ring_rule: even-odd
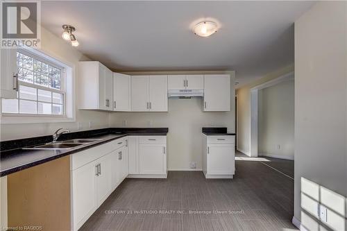
[[[74,71],[75,66],[66,61],[58,60],[53,55],[48,54],[44,51],[38,51],[35,49],[19,49],[20,53],[29,55],[37,60],[46,62],[53,67],[62,68],[61,87],[59,89],[42,87],[33,83],[27,83],[21,81],[21,85],[27,87],[34,87],[37,89],[49,90],[51,92],[63,93],[63,106],[62,114],[25,114],[25,113],[1,113],[0,123],[57,123],[57,122],[74,122],[75,118],[75,103],[74,103]],[[64,72],[64,73],[63,73]],[[53,99],[52,99],[53,100]],[[39,102],[39,101],[36,101]],[[19,102],[18,102],[19,104]],[[19,106],[19,105],[18,105]],[[0,101],[1,108],[1,101]]]

